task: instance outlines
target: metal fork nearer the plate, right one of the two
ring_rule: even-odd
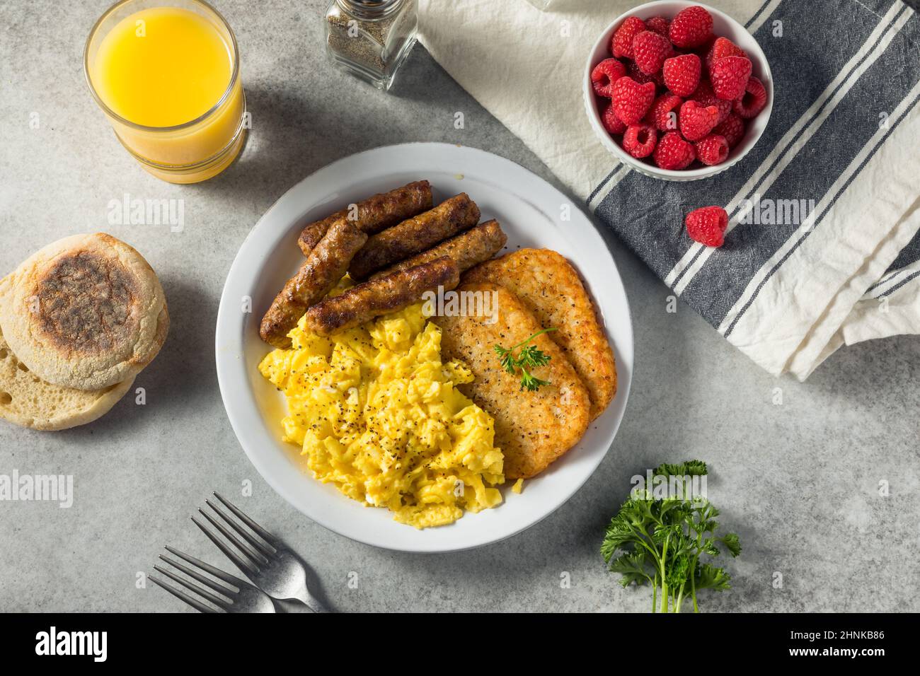
[[[246,528],[237,523],[235,519],[232,519],[224,510],[209,499],[204,500],[205,504],[223,519],[239,537],[227,530],[223,523],[214,519],[207,511],[201,509],[198,511],[201,512],[201,516],[207,519],[219,533],[224,535],[224,538],[230,541],[243,556],[240,556],[233,549],[224,544],[224,542],[201,523],[201,521],[192,517],[191,521],[195,522],[195,525],[201,529],[201,532],[207,535],[211,542],[216,544],[254,585],[267,593],[271,598],[281,601],[299,601],[304,603],[305,606],[314,613],[328,613],[326,606],[319,602],[316,597],[310,593],[310,590],[307,589],[306,570],[300,559],[298,559],[278,538],[262,528],[256,521],[252,521],[252,519],[247,517],[242,510],[239,510],[239,508],[233,505],[229,500],[218,493],[214,493],[213,495],[214,498],[217,498],[224,504],[224,507],[232,511],[239,521],[245,523],[249,530],[247,531]],[[250,531],[255,533],[255,535],[250,533]]]

